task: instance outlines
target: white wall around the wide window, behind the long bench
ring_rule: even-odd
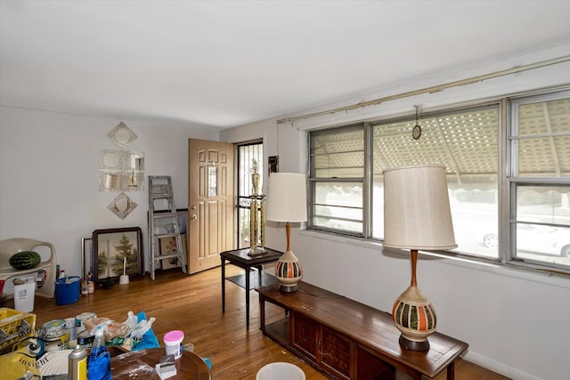
[[[570,53],[570,45],[550,52],[491,62],[431,77],[352,100],[339,101],[297,115],[341,105],[369,101],[395,93],[452,82],[487,72],[542,61]],[[545,69],[501,77],[481,84],[420,95],[377,107],[312,117],[292,123],[277,118],[220,133],[228,142],[264,137],[265,155],[279,155],[281,172],[306,172],[306,130],[372,117],[412,114],[413,105],[425,110],[464,101],[567,84],[566,62]],[[265,161],[266,165],[266,161]],[[268,247],[285,248],[283,226],[267,225]],[[383,311],[391,311],[395,298],[410,284],[407,255],[384,252],[379,244],[343,239],[292,228],[291,246],[305,268],[304,280]],[[469,344],[466,359],[515,379],[566,380],[570,376],[570,279],[550,278],[482,263],[464,263],[420,255],[419,287],[436,306],[439,332]]]

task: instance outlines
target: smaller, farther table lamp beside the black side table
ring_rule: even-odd
[[[281,292],[295,292],[297,283],[303,277],[303,268],[297,256],[291,251],[291,222],[306,221],[306,179],[305,174],[272,173],[267,185],[267,209],[265,219],[286,222],[287,251],[275,265],[275,276],[280,282]]]

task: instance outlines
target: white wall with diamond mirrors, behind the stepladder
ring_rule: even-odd
[[[99,192],[100,150],[117,150],[107,133],[123,121],[138,138],[127,149],[144,152],[143,191],[124,220],[107,205],[118,192]],[[218,140],[196,127],[118,120],[13,107],[0,108],[0,239],[53,243],[58,263],[81,274],[81,238],[93,230],[141,227],[146,256],[148,175],[171,175],[175,206],[188,205],[188,139]],[[144,260],[147,263],[147,260]],[[148,268],[148,265],[147,265]]]

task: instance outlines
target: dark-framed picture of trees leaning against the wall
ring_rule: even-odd
[[[118,279],[142,274],[142,230],[140,227],[94,230],[94,280]]]

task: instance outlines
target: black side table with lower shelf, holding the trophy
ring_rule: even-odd
[[[282,252],[271,248],[264,248],[263,253],[256,253],[255,255],[248,255],[250,252],[251,248],[243,248],[225,251],[220,254],[222,260],[222,312],[225,312],[225,280],[227,279],[246,290],[246,328],[249,328],[249,291],[256,287],[265,287],[277,281],[274,276],[263,271],[262,265],[276,262],[283,255]],[[226,262],[239,266],[245,272],[226,278]]]

